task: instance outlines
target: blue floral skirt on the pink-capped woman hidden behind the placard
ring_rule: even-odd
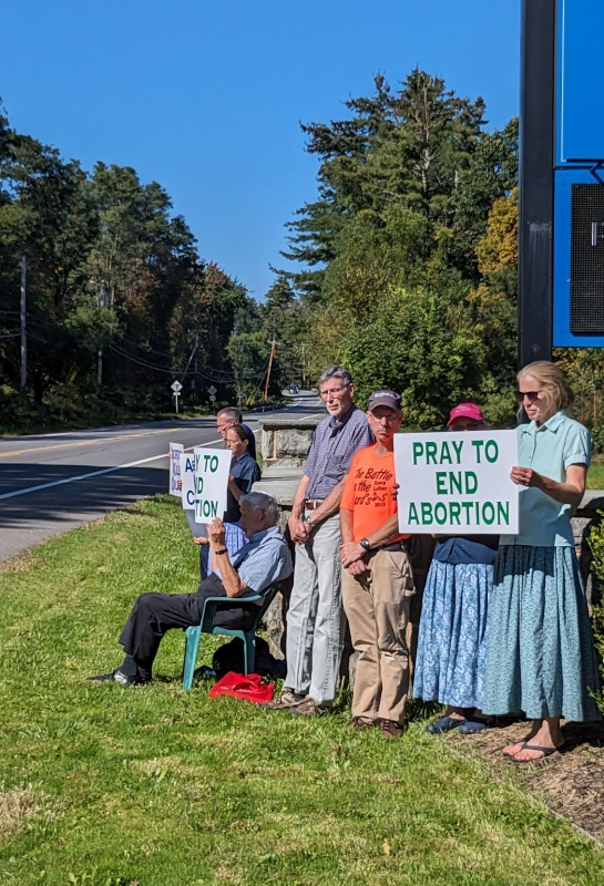
[[[421,607],[413,697],[482,708],[493,567],[432,560]]]

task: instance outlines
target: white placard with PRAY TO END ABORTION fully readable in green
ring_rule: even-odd
[[[395,436],[401,533],[518,535],[515,431]]]

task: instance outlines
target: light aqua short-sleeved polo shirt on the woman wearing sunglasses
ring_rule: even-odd
[[[534,422],[518,429],[518,464],[543,476],[566,483],[572,464],[588,466],[592,437],[586,427],[556,412],[540,427]],[[574,508],[555,502],[533,486],[519,486],[519,535],[502,535],[501,545],[574,547],[571,517]]]

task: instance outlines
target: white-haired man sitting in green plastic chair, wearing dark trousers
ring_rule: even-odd
[[[198,590],[195,594],[141,594],[120,636],[126,653],[124,661],[117,670],[90,677],[90,680],[113,680],[121,686],[149,683],[153,661],[166,630],[199,625],[208,597],[225,597],[225,604],[221,604],[216,611],[216,627],[233,630],[252,628],[254,607],[258,602],[246,604],[245,598],[262,594],[269,585],[287,578],[294,567],[283,533],[277,526],[277,502],[265,493],[250,492],[239,498],[239,507],[240,525],[248,542],[234,555],[233,562],[225,547],[224,524],[222,519],[214,519],[208,526],[212,573],[202,581]]]

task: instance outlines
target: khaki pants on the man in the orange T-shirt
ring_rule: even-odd
[[[368,571],[342,569],[342,600],[352,646],[359,652],[352,717],[401,723],[409,689],[406,631],[414,594],[405,550],[377,550]]]

